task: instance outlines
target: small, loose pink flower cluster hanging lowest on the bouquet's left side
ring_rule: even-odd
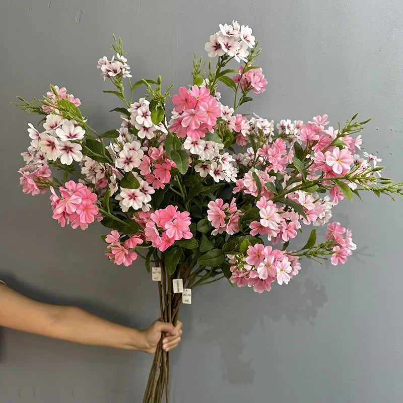
[[[126,238],[123,240],[123,238]],[[129,266],[133,260],[137,259],[137,253],[134,251],[137,245],[143,243],[143,239],[137,235],[121,236],[118,231],[113,230],[106,235],[105,242],[110,251],[106,252],[109,260],[115,264],[124,264]]]

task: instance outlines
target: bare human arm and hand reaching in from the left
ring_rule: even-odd
[[[154,353],[162,332],[165,350],[176,347],[182,323],[154,322],[145,330],[119,325],[73,306],[45,304],[0,284],[0,326],[90,346]]]

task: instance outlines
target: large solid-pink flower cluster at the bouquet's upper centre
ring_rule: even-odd
[[[190,90],[180,87],[179,94],[172,97],[172,102],[177,106],[169,129],[176,136],[188,136],[193,141],[204,138],[207,131],[212,131],[222,113],[217,100],[210,95],[210,90],[197,85]]]

